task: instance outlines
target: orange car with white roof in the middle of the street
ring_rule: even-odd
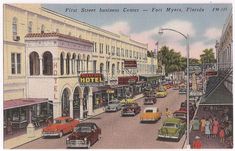
[[[156,107],[147,107],[140,115],[140,122],[157,121],[161,119],[162,113]]]

